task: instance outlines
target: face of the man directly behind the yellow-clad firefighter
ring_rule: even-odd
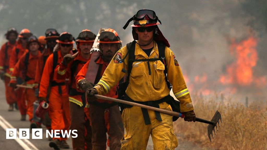
[[[117,43],[102,43],[100,47],[103,51],[103,57],[107,60],[112,60],[118,50]]]

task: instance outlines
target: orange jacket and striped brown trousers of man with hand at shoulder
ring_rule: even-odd
[[[85,145],[87,149],[92,149],[92,129],[89,121],[89,110],[86,104],[84,91],[77,89],[75,76],[84,66],[84,64],[90,59],[84,59],[79,53],[68,66],[60,63],[54,70],[56,74],[54,76],[57,79],[64,80],[70,79],[70,116],[71,124],[70,130],[76,129],[78,132],[77,138],[72,138],[73,149],[84,149]],[[75,70],[74,70],[75,69]],[[83,97],[83,98],[82,98]],[[86,108],[84,108],[86,107]],[[88,112],[88,113],[87,113]],[[86,139],[86,140],[85,140]],[[86,144],[85,144],[86,143]]]

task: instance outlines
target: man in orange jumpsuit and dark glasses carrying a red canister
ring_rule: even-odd
[[[45,62],[45,67],[42,73],[42,78],[39,86],[39,99],[46,100],[49,92],[49,116],[51,118],[51,129],[63,130],[68,132],[70,126],[70,112],[69,112],[69,94],[66,88],[65,79],[58,80],[54,76],[56,66],[63,61],[63,57],[72,50],[73,36],[68,32],[63,32],[56,40],[59,43],[58,51],[53,52]],[[57,73],[57,72],[56,72]],[[54,134],[54,133],[53,133]],[[66,142],[67,137],[53,137],[49,143],[50,147],[54,149],[69,148]]]

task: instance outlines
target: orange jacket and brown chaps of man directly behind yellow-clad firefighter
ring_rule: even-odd
[[[100,76],[96,77],[95,83],[96,84],[104,71],[106,70],[109,62],[105,62],[100,56],[97,60],[90,60],[96,61],[96,64],[99,64],[101,67]],[[80,72],[76,76],[76,85],[78,87],[78,82],[85,78],[87,73],[88,61]],[[97,69],[95,71],[98,71]],[[80,87],[78,87],[80,88]],[[117,98],[115,95],[116,93],[116,86],[114,86],[109,93],[105,94],[105,96]],[[90,123],[92,126],[92,145],[93,149],[105,149],[106,148],[106,132],[109,135],[109,147],[111,150],[113,149],[120,149],[120,139],[123,137],[124,128],[123,122],[121,120],[121,115],[119,112],[119,108],[116,102],[97,99],[94,102],[91,102],[89,105],[90,110]]]

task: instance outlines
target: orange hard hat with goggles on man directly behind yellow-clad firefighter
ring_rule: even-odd
[[[111,28],[105,29],[99,35],[99,43],[121,43],[118,33]]]

